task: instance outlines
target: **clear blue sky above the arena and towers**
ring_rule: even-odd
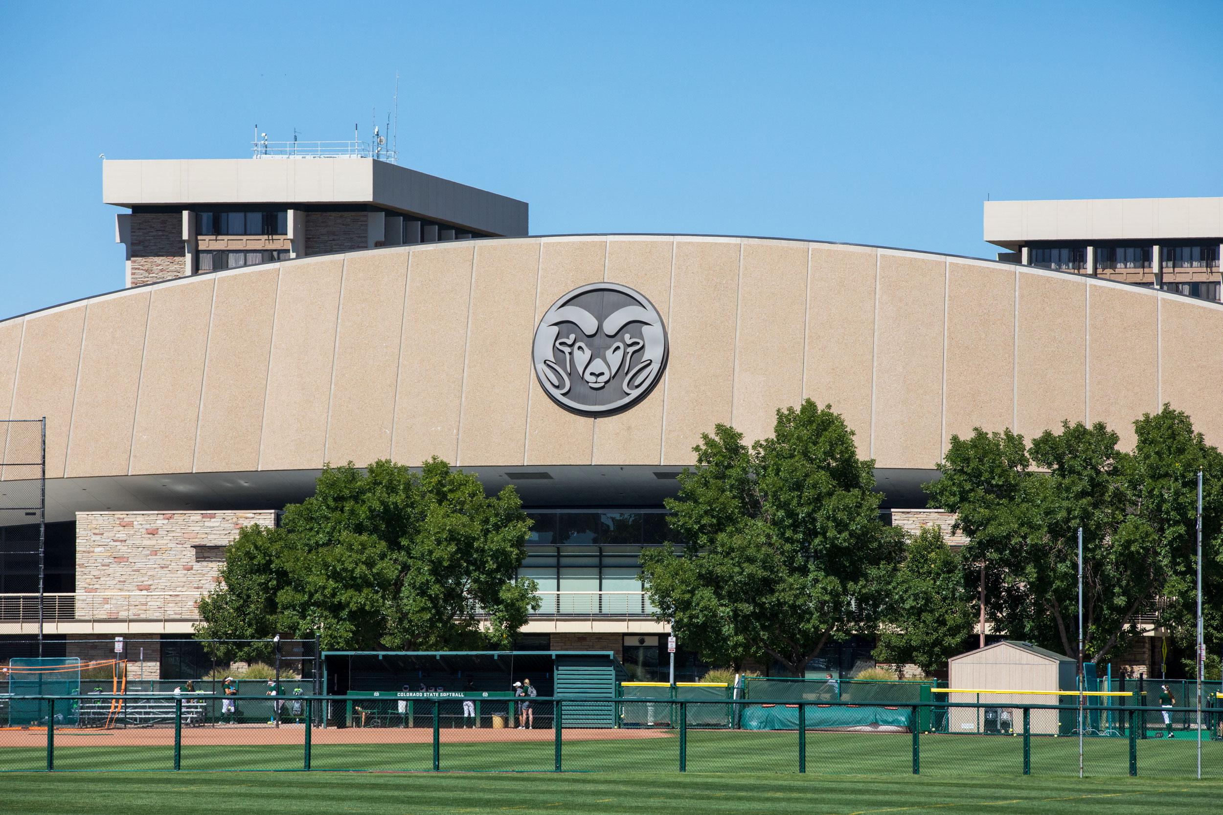
[[[1223,2],[0,4],[0,316],[122,286],[113,159],[368,134],[533,233],[989,257],[999,198],[1223,196]]]

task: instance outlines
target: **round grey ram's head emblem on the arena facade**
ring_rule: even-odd
[[[618,283],[591,283],[553,303],[536,329],[539,385],[583,415],[627,409],[667,367],[667,329],[653,303]]]

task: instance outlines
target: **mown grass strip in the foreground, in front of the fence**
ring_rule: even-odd
[[[592,813],[849,815],[945,810],[1003,815],[1218,811],[1223,783],[1148,778],[931,778],[704,773],[33,775],[0,780],[11,815],[268,813]]]

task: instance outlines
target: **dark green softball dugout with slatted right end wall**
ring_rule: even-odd
[[[612,651],[324,651],[323,687],[329,695],[512,693],[531,679],[542,698],[612,699],[627,678]],[[396,703],[397,711],[397,703]],[[445,704],[443,717],[461,717],[461,704]],[[571,703],[566,727],[615,727],[614,703]],[[552,704],[542,703],[537,727],[552,726]]]

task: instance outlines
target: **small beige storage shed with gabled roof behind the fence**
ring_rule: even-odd
[[[948,701],[980,703],[985,707],[951,707],[947,716],[948,731],[1022,733],[1025,706],[1055,705],[1062,699],[1069,699],[1059,696],[1058,692],[1075,689],[1075,660],[1069,656],[1016,640],[953,656],[948,665],[948,684],[961,693],[948,693]],[[987,690],[1025,693],[983,693]],[[1052,736],[1064,729],[1066,722],[1060,718],[1065,716],[1059,717],[1058,712],[1033,710],[1032,733]],[[1073,711],[1065,712],[1073,718]]]

